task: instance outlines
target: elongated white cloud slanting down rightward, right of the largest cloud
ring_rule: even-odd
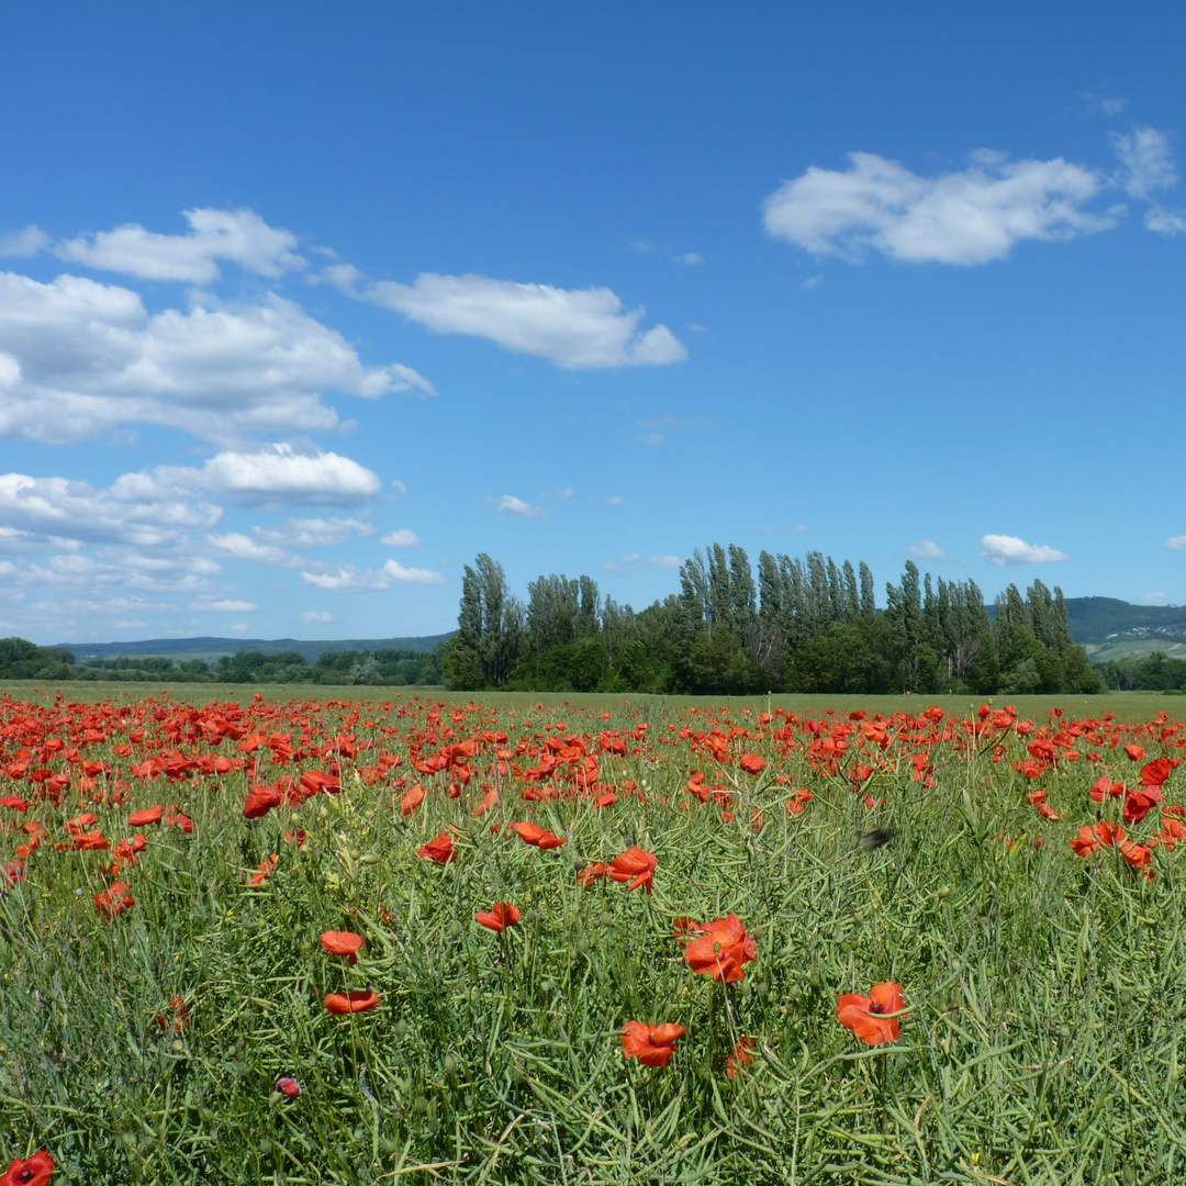
[[[644,310],[625,311],[608,288],[566,289],[487,276],[421,273],[410,285],[377,281],[351,295],[393,308],[438,333],[489,338],[566,370],[663,366],[688,351],[665,325],[643,333]]]

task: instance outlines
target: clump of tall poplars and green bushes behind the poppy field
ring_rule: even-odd
[[[907,561],[879,608],[866,563],[714,543],[680,568],[680,592],[642,611],[589,576],[542,575],[527,601],[483,553],[466,565],[458,630],[442,644],[449,688],[797,693],[1092,693],[1066,602],[1035,580],[984,605],[974,580],[932,580]]]

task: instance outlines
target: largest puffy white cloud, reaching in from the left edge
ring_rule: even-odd
[[[339,427],[326,391],[377,398],[432,384],[365,366],[337,331],[275,295],[149,315],[128,288],[0,273],[0,436],[69,444],[158,423],[208,440]]]

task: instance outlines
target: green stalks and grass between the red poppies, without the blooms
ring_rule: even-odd
[[[129,691],[115,687],[98,699]],[[219,691],[171,693],[180,700],[183,689],[196,703]],[[243,686],[235,691],[249,701]],[[180,803],[196,828],[153,831],[125,878],[135,906],[108,922],[91,894],[110,854],[52,846],[77,791],[57,809],[4,812],[40,820],[49,836],[27,880],[0,895],[0,1154],[49,1149],[63,1180],[87,1186],[1186,1180],[1186,847],[1155,849],[1149,882],[1114,850],[1084,860],[1067,843],[1096,818],[1086,788],[1102,770],[1135,777],[1120,750],[1095,746],[1105,763],[1027,780],[1010,765],[1026,757],[1016,739],[1003,740],[1001,761],[990,746],[910,744],[900,760],[891,747],[886,769],[854,795],[843,772],[855,748],[839,776],[811,769],[809,735],[796,732],[792,752],[757,735],[755,702],[735,704],[732,719],[752,734],[735,748],[766,758],[757,778],[694,753],[678,729],[704,729],[709,714],[672,702],[489,697],[489,710],[454,723],[423,708],[402,719],[376,709],[391,689],[350,691],[376,695],[358,716],[324,701],[294,709],[291,728],[299,734],[304,719],[319,739],[374,740],[403,757],[393,776],[407,774],[409,741],[432,753],[449,725],[458,738],[502,728],[510,745],[555,720],[562,737],[595,739],[639,720],[650,729],[644,744],[631,740],[639,753],[599,757],[601,782],[619,789],[602,810],[524,802],[523,784],[502,776],[502,806],[474,818],[478,784],[497,777],[489,748],[457,798],[446,774],[408,776],[431,789],[408,816],[398,788],[366,786],[349,764],[342,795],[257,821],[241,814],[244,773],[197,785],[132,779],[130,804],[95,809],[108,836],[129,833],[129,806],[157,802]],[[1097,716],[1137,701],[1127,719],[1167,706],[1172,716],[1180,703],[1088,703]],[[537,702],[542,712],[524,707]],[[856,703],[796,699],[795,710]],[[1018,708],[1044,722],[1044,703]],[[871,713],[890,704],[860,701]],[[1139,737],[1150,757],[1161,752],[1156,733]],[[1166,752],[1178,755],[1172,742]],[[8,738],[6,763],[19,745]],[[916,750],[933,763],[933,786],[911,777]],[[120,765],[108,746],[93,751]],[[371,761],[359,752],[359,766]],[[694,769],[735,788],[732,821],[713,802],[684,809]],[[261,769],[269,782],[280,773]],[[627,779],[645,802],[623,793]],[[1035,785],[1064,820],[1035,815],[1026,802]],[[790,815],[799,788],[814,798]],[[869,810],[866,793],[884,806]],[[491,831],[491,821],[524,818],[566,846],[540,852]],[[1155,825],[1150,816],[1129,830]],[[283,839],[298,827],[300,848]],[[416,849],[449,827],[459,860],[420,860]],[[874,828],[893,839],[862,846]],[[632,843],[657,854],[652,895],[578,886],[578,868]],[[246,888],[272,853],[275,873]],[[523,908],[502,936],[473,918],[496,900]],[[741,983],[716,986],[688,969],[672,919],[729,912],[755,937],[757,958]],[[325,930],[366,937],[356,968],[321,950]],[[837,1025],[836,997],[886,980],[904,986],[908,1016],[897,1042],[867,1048]],[[345,987],[375,989],[380,1007],[330,1016],[324,995]],[[177,1032],[157,1022],[172,1018],[174,996],[190,1018]],[[667,1069],[623,1059],[627,1020],[687,1027]],[[742,1034],[757,1038],[754,1063],[731,1079],[726,1059]],[[286,1075],[301,1084],[298,1099],[273,1093]]]

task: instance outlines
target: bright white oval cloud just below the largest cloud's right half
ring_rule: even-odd
[[[375,498],[382,489],[375,473],[349,457],[293,444],[268,445],[253,453],[217,453],[200,470],[161,467],[157,473],[243,506],[349,505]]]

